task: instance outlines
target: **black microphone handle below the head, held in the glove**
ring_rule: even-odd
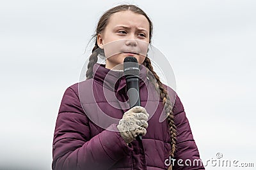
[[[134,106],[140,105],[140,87],[139,87],[139,78],[138,76],[127,76],[126,78],[127,84],[127,94],[129,97],[129,106],[133,108]],[[136,136],[137,141],[141,141],[142,135],[139,134]]]

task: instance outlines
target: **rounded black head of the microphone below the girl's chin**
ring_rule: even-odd
[[[128,56],[124,59],[124,75],[134,75],[139,76],[140,68],[138,64],[138,60],[135,57]]]

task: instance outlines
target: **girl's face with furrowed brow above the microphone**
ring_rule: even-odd
[[[136,57],[141,64],[147,55],[149,22],[143,15],[119,11],[109,18],[104,31],[97,35],[97,43],[104,49],[106,68],[122,69],[125,57]],[[118,65],[120,64],[120,65]]]

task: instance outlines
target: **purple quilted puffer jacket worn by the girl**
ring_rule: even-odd
[[[148,81],[145,67],[140,78],[141,106],[150,117],[142,141],[134,140],[129,145],[116,128],[129,110],[122,72],[95,64],[92,79],[68,87],[56,120],[52,169],[168,169],[170,132],[163,101]],[[198,149],[182,103],[167,88],[177,127],[173,169],[204,169],[202,162],[198,163]]]

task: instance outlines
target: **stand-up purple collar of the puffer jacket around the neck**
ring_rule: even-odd
[[[96,63],[93,66],[93,80],[100,83],[109,90],[119,90],[126,87],[126,80],[123,71],[113,71],[105,67],[105,64]],[[147,81],[147,68],[140,65],[140,87]]]

